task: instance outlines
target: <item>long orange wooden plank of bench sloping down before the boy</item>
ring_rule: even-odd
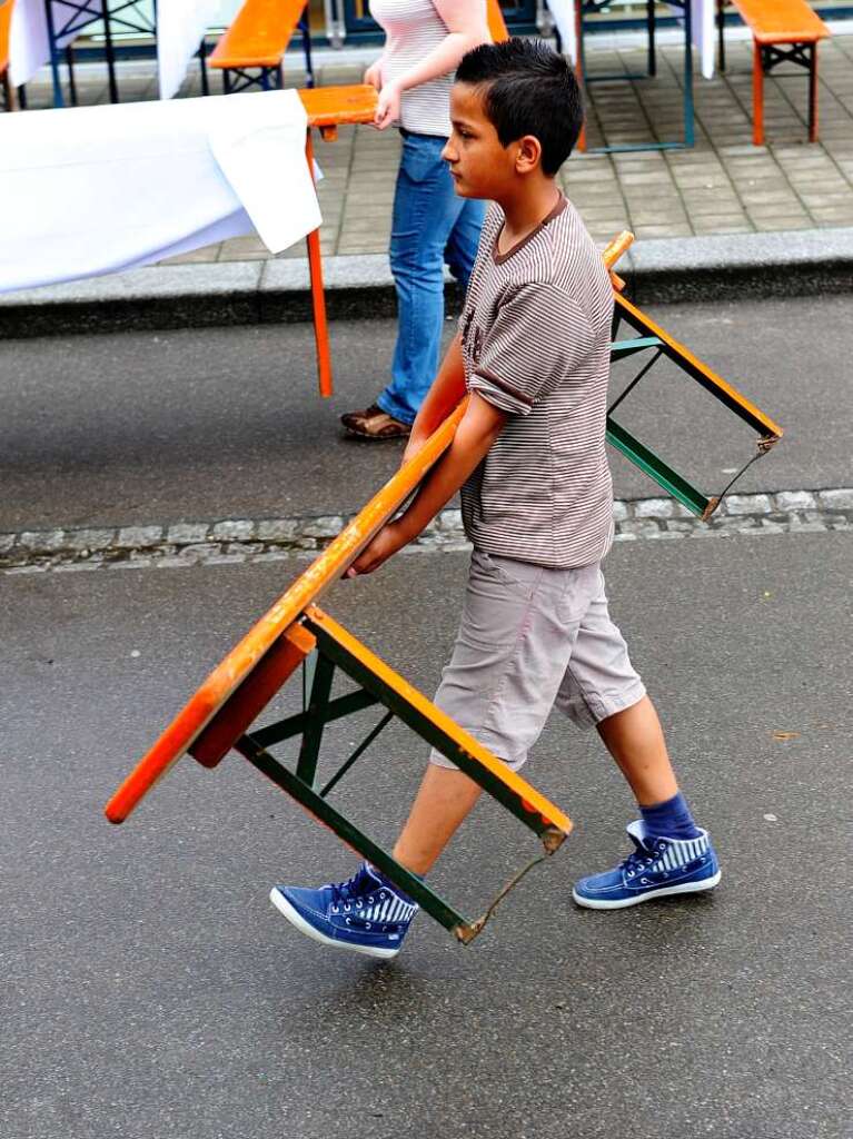
[[[105,814],[110,822],[123,822],[128,818],[148,790],[192,746],[274,641],[289,629],[307,605],[317,600],[353,564],[370,539],[393,517],[433,464],[450,446],[466,407],[467,400],[462,400],[415,458],[397,470],[213,670],[109,800]]]

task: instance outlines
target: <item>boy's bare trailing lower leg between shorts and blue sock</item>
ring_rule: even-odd
[[[678,794],[661,721],[648,696],[602,720],[598,734],[640,806],[665,803]]]

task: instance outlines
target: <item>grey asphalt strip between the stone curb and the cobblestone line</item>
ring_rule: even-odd
[[[847,296],[653,314],[786,428],[739,490],[850,485]],[[356,510],[400,445],[342,439],[337,417],[375,399],[393,335],[334,326],[330,401],[307,326],[0,342],[0,532]],[[753,454],[752,433],[666,366],[617,418],[708,492]],[[617,497],[657,493],[616,453],[613,467]]]

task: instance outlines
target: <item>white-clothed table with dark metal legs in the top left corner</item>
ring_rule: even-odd
[[[199,46],[204,51],[204,34],[218,10],[218,0],[155,0],[151,19],[140,0],[16,0],[9,33],[10,81],[22,87],[40,67],[50,64],[54,105],[64,106],[59,75],[63,51],[88,26],[102,21],[110,101],[118,101],[114,31],[156,38],[159,96],[171,99]],[[204,56],[202,59],[204,63]]]

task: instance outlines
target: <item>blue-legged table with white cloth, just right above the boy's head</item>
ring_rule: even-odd
[[[553,17],[560,47],[572,59],[582,82],[592,83],[600,80],[647,79],[656,74],[655,31],[657,26],[655,0],[646,0],[646,26],[648,32],[648,67],[643,75],[589,75],[584,59],[584,14],[599,11],[606,7],[607,0],[547,0],[548,9]],[[716,0],[673,0],[667,7],[676,16],[683,27],[683,81],[682,101],[684,117],[684,137],[680,141],[647,142],[615,145],[597,148],[600,151],[625,150],[665,150],[680,147],[691,147],[695,142],[694,123],[694,59],[692,48],[699,54],[700,71],[705,79],[714,74],[714,19]]]

